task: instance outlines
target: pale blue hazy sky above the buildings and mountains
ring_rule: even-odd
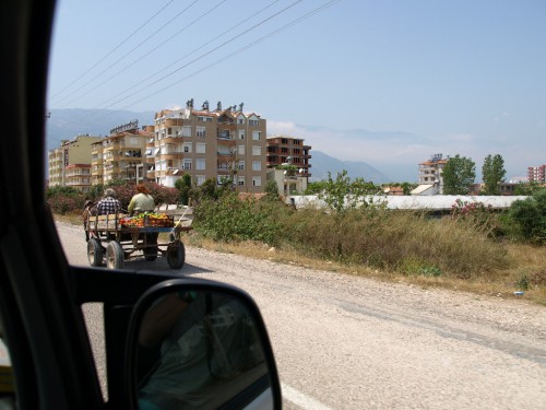
[[[546,1],[58,1],[48,109],[190,98],[393,180],[436,153],[525,176],[546,164]]]

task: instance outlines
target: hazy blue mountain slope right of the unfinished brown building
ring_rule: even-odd
[[[361,177],[375,184],[391,181],[389,176],[365,162],[340,161],[317,150],[311,150],[310,153],[311,180],[327,179],[328,172],[332,174],[332,177],[335,177],[337,173],[346,169],[351,178]]]

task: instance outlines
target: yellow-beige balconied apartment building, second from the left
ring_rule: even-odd
[[[139,184],[145,180],[146,141],[153,138],[153,126],[139,129],[139,121],[130,121],[110,130],[110,134],[91,145],[92,185],[115,180]]]

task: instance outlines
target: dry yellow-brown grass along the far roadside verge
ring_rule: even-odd
[[[74,225],[81,225],[82,223],[79,212],[55,215],[55,219]],[[468,238],[468,236],[460,236],[464,235],[465,232],[454,233],[452,226],[449,226],[449,222],[442,224],[446,230],[432,233],[429,231],[431,230],[431,225],[412,221],[414,220],[401,220],[395,225],[382,225],[383,232],[384,230],[387,232],[384,232],[385,235],[382,238],[378,238],[378,243],[373,244],[375,248],[382,256],[391,258],[390,260],[395,260],[396,257],[401,258],[397,263],[391,262],[391,266],[387,265],[383,268],[370,267],[369,263],[360,260],[347,261],[335,257],[321,258],[311,254],[302,255],[300,248],[297,250],[290,249],[286,244],[283,248],[274,248],[260,242],[218,243],[203,238],[197,232],[186,235],[183,241],[189,246],[237,254],[257,259],[268,259],[292,266],[296,265],[308,269],[356,274],[382,281],[412,283],[424,288],[459,290],[505,298],[524,298],[546,306],[546,247],[523,244],[498,244],[492,241],[484,243],[480,237]],[[399,229],[395,226],[399,226]],[[334,226],[330,226],[330,229],[333,230]],[[348,229],[348,226],[340,226],[340,229],[344,230]],[[407,241],[407,248],[390,250],[390,253],[383,250],[389,247],[389,241],[394,241],[396,236],[400,238],[403,232],[412,233],[411,236],[406,237],[411,238],[411,241]],[[353,231],[353,234],[358,235],[359,233]],[[472,232],[466,232],[466,235],[472,235]],[[355,237],[353,237],[354,239]],[[415,272],[415,261],[412,261],[407,255],[420,255],[422,251],[430,253],[432,245],[429,241],[436,243],[446,242],[447,245],[440,248],[446,253],[441,258],[442,265],[447,267],[453,265],[456,269],[461,269],[461,266],[467,269],[476,268],[479,269],[479,274],[440,274],[438,277],[417,274]],[[347,244],[346,246],[353,245]],[[465,260],[450,261],[450,257],[459,258],[458,255],[466,255]],[[492,266],[495,266],[495,269],[483,269],[484,258],[494,258]],[[422,262],[422,260],[417,260],[416,266],[419,267]],[[404,269],[404,267],[407,269]],[[518,290],[523,290],[524,295],[515,296],[514,291]]]

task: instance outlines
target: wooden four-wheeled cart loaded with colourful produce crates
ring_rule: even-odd
[[[92,215],[84,220],[87,239],[87,259],[91,266],[106,263],[107,268],[121,269],[128,259],[144,258],[149,261],[166,256],[171,269],[180,269],[186,260],[181,233],[191,230],[166,214]],[[159,237],[159,234],[164,234]]]

